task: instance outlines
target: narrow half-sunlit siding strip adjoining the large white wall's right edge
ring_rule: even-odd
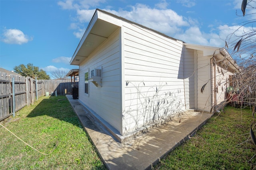
[[[184,84],[186,109],[195,109],[195,56],[193,49],[184,48]]]

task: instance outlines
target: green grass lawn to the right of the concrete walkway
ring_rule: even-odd
[[[228,106],[225,111],[210,118],[192,139],[170,152],[154,169],[255,169],[256,156],[248,161],[256,154],[256,146],[251,140],[242,143],[250,139],[250,124],[253,122],[250,108],[241,112],[240,108]]]

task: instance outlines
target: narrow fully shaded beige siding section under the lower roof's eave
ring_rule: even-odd
[[[198,109],[210,111],[211,109],[211,68],[210,56],[203,56],[203,52],[197,50],[197,100]],[[207,83],[208,82],[208,83]],[[207,84],[206,84],[207,83]],[[202,86],[206,84],[203,93],[201,93]]]

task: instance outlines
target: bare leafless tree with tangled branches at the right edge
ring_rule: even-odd
[[[248,20],[240,23],[238,29],[228,35],[225,46],[240,66],[240,72],[235,74],[232,79],[234,94],[238,96],[234,102],[240,104],[241,108],[250,106],[252,109],[250,139],[256,145],[256,137],[252,130],[256,125],[254,121],[256,114],[256,29],[254,28],[256,13],[253,12],[256,8],[256,1],[241,0],[241,2],[243,15],[238,16],[237,14],[237,16],[248,17]]]

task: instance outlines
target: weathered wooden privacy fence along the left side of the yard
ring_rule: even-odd
[[[72,84],[78,84],[73,82]],[[57,95],[71,94],[71,80],[36,80],[0,72],[0,121],[15,116],[24,106],[34,104],[40,96],[57,91]]]

